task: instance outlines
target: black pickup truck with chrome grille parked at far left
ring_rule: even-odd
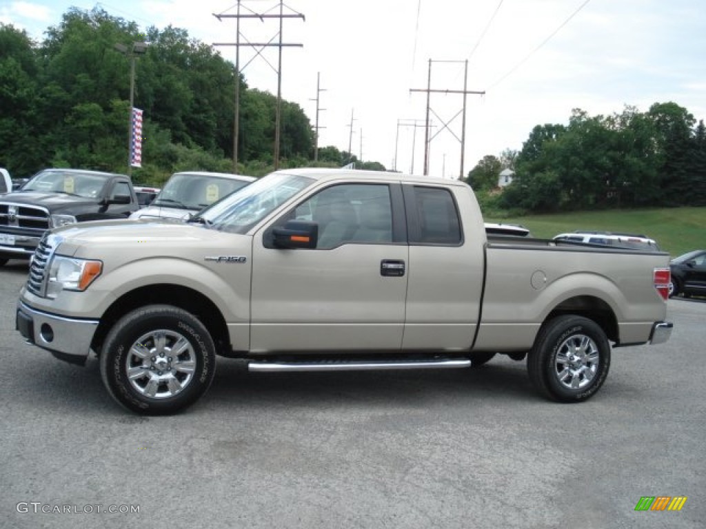
[[[44,169],[21,190],[0,196],[0,266],[9,259],[29,259],[47,229],[126,219],[139,208],[124,174]]]

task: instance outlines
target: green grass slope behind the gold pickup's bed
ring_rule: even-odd
[[[598,212],[574,212],[525,215],[488,222],[522,224],[539,238],[576,230],[625,231],[643,233],[653,238],[672,257],[706,248],[706,207],[662,209],[606,209]]]

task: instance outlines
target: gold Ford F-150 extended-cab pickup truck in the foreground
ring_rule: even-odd
[[[54,229],[16,327],[57,358],[100,361],[138,413],[174,413],[222,355],[251,371],[473,367],[527,358],[544,396],[578,402],[611,346],[662,343],[669,255],[487,236],[465,183],[277,171],[184,224]]]

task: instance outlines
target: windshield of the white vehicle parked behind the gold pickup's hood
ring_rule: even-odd
[[[203,174],[177,173],[164,184],[153,206],[203,209],[249,183],[247,180]]]

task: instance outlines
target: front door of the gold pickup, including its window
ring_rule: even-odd
[[[409,250],[392,241],[390,207],[387,185],[330,186],[273,223],[310,215],[319,248],[267,248],[256,233],[251,351],[400,350]]]

